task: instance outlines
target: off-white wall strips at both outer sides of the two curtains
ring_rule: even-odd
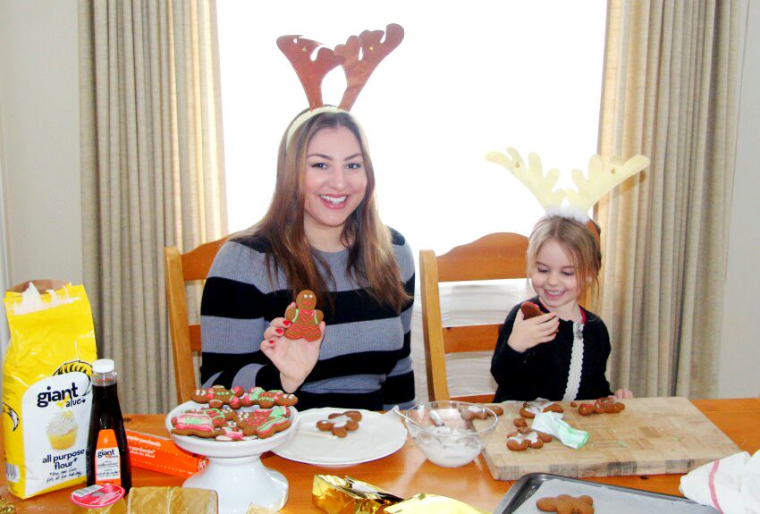
[[[0,173],[12,284],[82,280],[78,58],[76,0],[0,0]],[[718,384],[724,398],[760,396],[757,91],[760,4],[750,2]]]

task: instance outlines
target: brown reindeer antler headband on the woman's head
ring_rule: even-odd
[[[388,25],[385,31],[364,30],[359,36],[348,38],[345,45],[335,46],[334,50],[300,36],[277,38],[277,46],[291,62],[308,98],[308,111],[291,123],[288,141],[300,125],[312,116],[325,112],[350,111],[377,64],[393,52],[403,38],[404,29],[395,23]],[[311,55],[320,46],[317,58],[312,61]],[[346,90],[338,107],[325,106],[322,100],[322,80],[338,65],[346,73]]]

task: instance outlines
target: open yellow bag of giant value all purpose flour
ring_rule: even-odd
[[[82,286],[8,291],[11,344],[3,363],[8,489],[29,498],[87,479],[95,331]]]

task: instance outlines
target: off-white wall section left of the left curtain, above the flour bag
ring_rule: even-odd
[[[82,281],[77,0],[0,0],[10,284]]]

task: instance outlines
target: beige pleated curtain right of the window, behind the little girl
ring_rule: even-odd
[[[613,387],[716,393],[733,181],[735,0],[610,0],[602,155],[651,159],[597,206]]]

